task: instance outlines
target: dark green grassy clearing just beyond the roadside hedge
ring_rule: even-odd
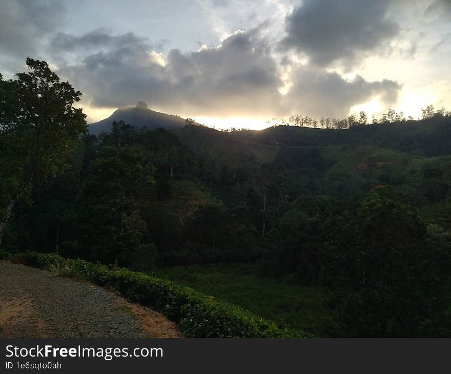
[[[284,327],[325,337],[334,323],[321,288],[259,276],[252,264],[174,266],[155,273]]]

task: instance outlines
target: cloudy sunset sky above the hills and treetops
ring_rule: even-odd
[[[30,56],[93,122],[145,101],[216,128],[451,109],[451,0],[0,0],[0,73]]]

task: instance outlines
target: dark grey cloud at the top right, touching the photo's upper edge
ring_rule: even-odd
[[[317,66],[337,60],[352,65],[360,53],[397,35],[388,5],[388,0],[304,0],[285,18],[281,48],[305,53]]]

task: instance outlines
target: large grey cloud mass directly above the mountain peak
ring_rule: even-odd
[[[71,48],[82,40],[94,43],[86,35],[64,39]],[[197,52],[171,50],[163,64],[151,47],[130,37],[127,43],[111,43],[108,51],[90,54],[79,64],[61,67],[60,73],[94,106],[120,107],[145,100],[166,111],[215,116],[271,116],[282,110],[276,61],[253,33],[237,32],[219,47]]]

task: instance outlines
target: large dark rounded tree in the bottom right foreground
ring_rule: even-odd
[[[368,194],[327,253],[332,261],[323,261],[324,274],[344,325],[340,335],[412,337],[440,329],[449,255],[429,242],[425,225],[393,188]]]

